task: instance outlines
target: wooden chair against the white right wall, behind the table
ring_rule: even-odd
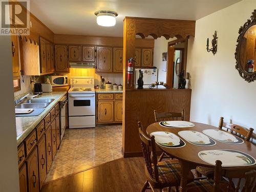
[[[223,119],[224,118],[221,117],[220,121],[219,121],[219,129],[220,130],[227,131],[227,132],[234,134],[242,139],[245,139],[246,141],[249,141],[251,139],[251,136],[253,133],[252,128],[250,128],[247,131],[246,129],[244,129],[244,127],[237,125],[237,124],[224,122]],[[197,166],[196,172],[197,172],[198,177],[201,177],[201,175],[204,175],[208,179],[214,178],[214,168]]]

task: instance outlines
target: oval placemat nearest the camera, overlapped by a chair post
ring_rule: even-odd
[[[223,167],[254,165],[255,159],[250,155],[237,150],[207,150],[198,153],[200,159],[215,165],[216,160],[222,162]]]

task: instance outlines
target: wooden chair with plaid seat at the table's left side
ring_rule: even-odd
[[[180,164],[171,160],[158,162],[156,156],[155,136],[148,137],[142,131],[141,122],[138,122],[138,126],[143,157],[145,160],[145,173],[147,177],[141,192],[144,192],[149,188],[153,191],[157,188],[161,192],[162,189],[166,187],[168,187],[169,192],[170,187],[173,186],[175,186],[176,191],[178,191],[181,175]],[[194,175],[191,172],[188,174],[188,180],[194,181]]]

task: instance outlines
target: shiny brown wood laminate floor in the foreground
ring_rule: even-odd
[[[45,183],[41,192],[136,192],[145,181],[142,157],[121,158]]]

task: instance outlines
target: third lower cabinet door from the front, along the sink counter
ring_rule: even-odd
[[[42,136],[41,140],[37,144],[38,147],[38,165],[39,165],[39,186],[42,188],[42,184],[46,178],[46,137]]]

